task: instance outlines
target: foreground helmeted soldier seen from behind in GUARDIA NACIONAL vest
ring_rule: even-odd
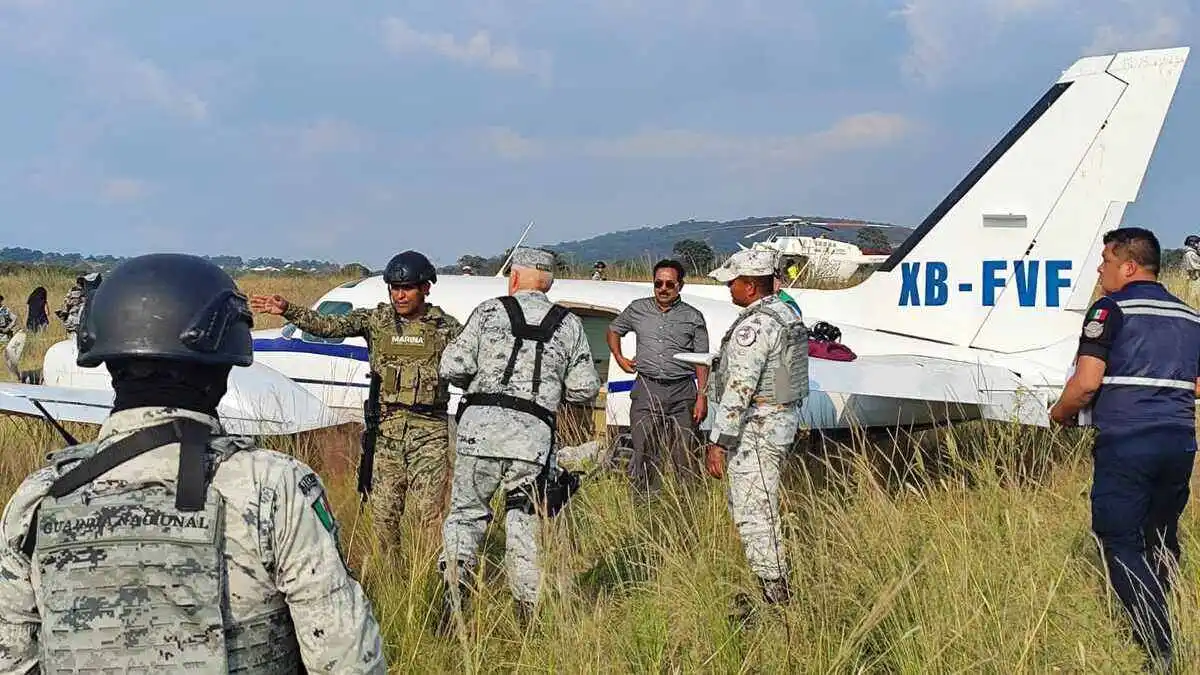
[[[217,417],[250,329],[194,256],[133,258],[92,295],[77,360],[114,405],[0,518],[0,671],[385,671],[320,478]]]

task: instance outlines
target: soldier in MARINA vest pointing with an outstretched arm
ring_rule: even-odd
[[[462,331],[458,319],[426,301],[438,274],[428,258],[404,251],[383,273],[390,303],[344,316],[323,316],[281,295],[253,295],[254,311],[282,315],[301,330],[323,338],[367,340],[371,372],[379,376],[378,467],[372,518],[386,545],[400,540],[400,522],[409,494],[420,522],[445,515],[450,482],[450,390],[438,377],[445,345]]]

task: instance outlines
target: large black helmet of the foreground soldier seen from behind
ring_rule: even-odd
[[[181,253],[138,256],[88,295],[76,363],[142,357],[247,366],[252,325],[246,295],[220,267]]]

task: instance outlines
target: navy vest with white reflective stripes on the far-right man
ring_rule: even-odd
[[[1156,282],[1129,283],[1110,298],[1122,321],[1093,399],[1098,440],[1180,431],[1194,442],[1200,313]]]

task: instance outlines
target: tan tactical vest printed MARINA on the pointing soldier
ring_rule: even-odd
[[[438,330],[439,322],[397,319],[394,324],[396,330],[376,338],[379,401],[419,412],[445,412],[449,393],[438,384],[438,362],[446,339]]]

